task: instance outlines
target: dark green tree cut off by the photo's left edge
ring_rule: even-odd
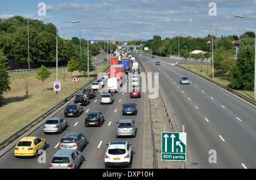
[[[10,91],[10,76],[7,72],[8,67],[7,65],[7,58],[3,54],[3,50],[0,50],[0,104],[4,102],[3,100],[3,92]]]

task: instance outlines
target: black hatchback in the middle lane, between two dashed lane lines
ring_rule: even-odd
[[[104,114],[101,112],[89,112],[85,118],[85,126],[101,126],[104,122]]]

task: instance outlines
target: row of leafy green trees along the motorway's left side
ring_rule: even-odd
[[[48,65],[56,62],[56,25],[43,23],[37,19],[28,19],[30,63]],[[75,31],[75,30],[74,30]],[[81,40],[81,54],[80,54]],[[110,53],[105,42],[87,44],[84,38],[72,37],[64,40],[57,37],[58,61],[76,61],[77,70],[87,72],[87,47],[89,46],[89,71],[93,71],[92,58],[101,50]],[[105,48],[104,48],[105,45]],[[115,44],[112,49],[116,49]],[[3,101],[3,92],[10,90],[9,75],[6,73],[8,60],[18,60],[28,63],[27,19],[22,16],[13,16],[7,19],[0,18],[0,103]],[[85,73],[84,73],[85,74]]]

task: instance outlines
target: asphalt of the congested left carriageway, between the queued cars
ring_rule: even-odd
[[[62,117],[68,121],[68,127],[61,134],[44,134],[43,125],[30,134],[30,136],[38,136],[39,138],[46,139],[46,156],[41,155],[38,158],[15,158],[14,148],[12,148],[0,158],[0,168],[48,168],[53,153],[58,149],[61,137],[67,132],[81,132],[86,136],[88,141],[86,147],[81,151],[84,161],[79,166],[80,169],[105,169],[105,145],[113,140],[125,140],[134,144],[131,168],[142,168],[143,96],[141,98],[130,98],[130,93],[127,90],[128,85],[126,89],[125,87],[126,85],[123,85],[124,92],[112,93],[114,95],[113,104],[100,104],[101,92],[96,90],[96,97],[90,99],[88,106],[83,106],[84,112],[80,117],[64,117],[64,109],[61,109],[54,115],[54,117]],[[137,115],[122,115],[122,104],[130,101],[134,101],[137,104]],[[73,104],[73,100],[67,104]],[[104,114],[105,121],[101,127],[85,127],[84,121],[86,114],[92,111],[100,111]],[[137,122],[137,135],[135,138],[115,137],[115,128],[119,119],[134,119]]]

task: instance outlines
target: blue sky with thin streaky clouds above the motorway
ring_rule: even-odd
[[[46,5],[46,15],[39,15],[39,3]],[[215,6],[209,6],[214,3]],[[215,12],[215,15],[210,15]],[[41,11],[42,12],[42,11]],[[203,0],[0,0],[0,18],[20,15],[39,19],[44,23],[59,24],[80,20],[75,24],[59,24],[59,35],[98,40],[101,36],[123,37],[124,41],[135,38],[162,39],[183,33],[187,36],[205,37],[212,32],[217,37],[242,35],[254,31],[254,21],[236,18],[243,15],[256,18],[256,1],[203,1]],[[206,27],[200,29],[199,27]],[[96,32],[94,30],[102,29]]]

